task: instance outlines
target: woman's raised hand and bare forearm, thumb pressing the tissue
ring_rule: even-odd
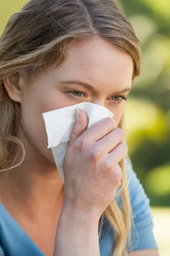
[[[87,127],[88,117],[79,110],[63,161],[64,204],[54,256],[100,255],[99,218],[121,183],[125,134],[112,118]]]

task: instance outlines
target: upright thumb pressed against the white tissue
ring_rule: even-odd
[[[74,128],[71,133],[69,145],[77,140],[77,138],[88,128],[88,116],[82,109],[77,109],[77,121],[75,122]]]

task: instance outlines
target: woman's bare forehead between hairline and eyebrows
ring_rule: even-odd
[[[55,81],[78,80],[95,87],[114,85],[118,90],[130,87],[132,75],[132,58],[102,39],[70,44],[64,61],[50,71]]]

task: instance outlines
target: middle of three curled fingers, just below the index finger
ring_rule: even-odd
[[[125,138],[125,133],[120,128],[115,128],[101,140],[96,142],[97,148],[102,154],[107,154],[113,150]]]

